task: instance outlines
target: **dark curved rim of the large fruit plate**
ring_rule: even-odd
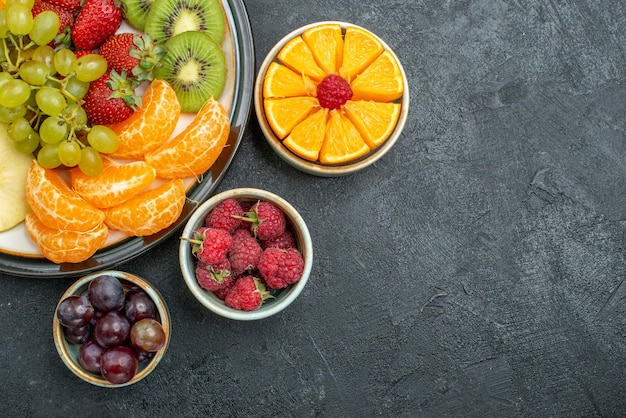
[[[226,175],[243,138],[252,111],[255,52],[252,28],[243,0],[222,0],[233,43],[235,82],[229,111],[230,135],[213,166],[193,183],[178,220],[170,227],[146,237],[130,237],[99,250],[81,263],[56,264],[45,258],[24,257],[0,252],[0,272],[20,277],[77,277],[115,268],[144,254],[174,235],[194,210],[212,194]]]

